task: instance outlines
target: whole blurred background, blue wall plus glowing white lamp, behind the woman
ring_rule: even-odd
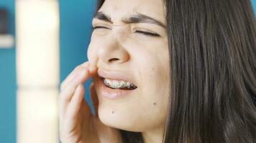
[[[35,4],[32,0],[0,0],[3,143],[28,143],[32,136],[41,137],[37,142],[59,142],[55,137],[58,86],[78,64],[88,60],[96,0],[48,1]],[[256,14],[256,0],[251,1]],[[86,82],[86,89],[90,82]],[[85,98],[91,106],[88,90]]]

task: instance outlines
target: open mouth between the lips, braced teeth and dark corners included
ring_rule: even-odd
[[[121,89],[121,90],[134,90],[137,89],[137,86],[132,82],[127,82],[124,80],[117,79],[109,79],[105,77],[100,77],[101,81],[103,81],[104,85],[109,89]]]

